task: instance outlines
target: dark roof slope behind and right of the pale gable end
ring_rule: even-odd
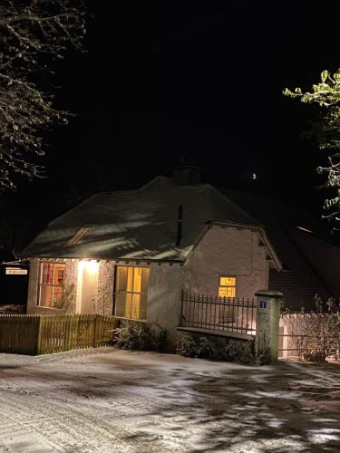
[[[306,260],[289,234],[292,228],[296,235],[306,234],[296,229],[296,226],[302,226],[321,235],[325,232],[321,222],[302,209],[277,200],[227,189],[221,191],[265,225],[267,236],[284,266],[279,272],[270,269],[270,289],[282,291],[287,305],[293,310],[301,305],[312,308],[315,294],[324,299],[330,297],[324,281],[315,272],[316,267],[311,260]],[[314,240],[313,235],[311,240]]]

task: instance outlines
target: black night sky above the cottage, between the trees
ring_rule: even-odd
[[[55,68],[55,105],[77,116],[46,138],[47,178],[2,196],[24,237],[16,248],[92,193],[138,188],[180,162],[320,215],[324,156],[299,138],[315,112],[282,90],[340,66],[335,2],[87,4],[87,52]]]

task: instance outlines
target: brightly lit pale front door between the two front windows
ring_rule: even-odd
[[[88,261],[83,265],[81,313],[97,312],[98,264]]]

